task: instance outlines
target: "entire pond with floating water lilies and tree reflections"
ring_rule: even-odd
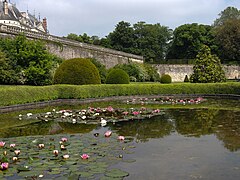
[[[1,114],[0,153],[1,179],[238,179],[239,100],[136,98]]]

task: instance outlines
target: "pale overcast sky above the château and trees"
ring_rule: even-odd
[[[50,34],[104,37],[120,21],[160,23],[176,28],[186,23],[211,25],[228,6],[240,0],[11,0],[21,11],[46,17]]]

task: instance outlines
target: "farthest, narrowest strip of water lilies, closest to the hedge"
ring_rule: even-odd
[[[197,98],[175,98],[175,97],[156,97],[156,98],[134,98],[126,100],[127,104],[199,104],[206,99]]]

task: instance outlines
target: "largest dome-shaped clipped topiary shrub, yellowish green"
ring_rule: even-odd
[[[96,66],[84,58],[64,61],[56,70],[54,84],[100,84],[101,79]]]

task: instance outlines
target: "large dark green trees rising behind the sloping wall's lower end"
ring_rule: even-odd
[[[131,26],[121,21],[104,43],[105,47],[144,56],[146,62],[158,62],[165,57],[171,35],[172,31],[160,24],[139,22]]]

